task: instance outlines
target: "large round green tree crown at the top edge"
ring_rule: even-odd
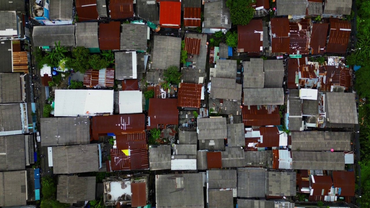
[[[246,25],[253,18],[255,9],[251,6],[253,0],[226,0],[230,9],[230,19],[235,25]]]

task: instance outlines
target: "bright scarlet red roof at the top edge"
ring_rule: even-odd
[[[180,28],[181,2],[162,1],[159,5],[159,24],[161,27]]]

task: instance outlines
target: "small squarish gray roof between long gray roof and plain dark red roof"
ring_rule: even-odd
[[[76,46],[99,48],[98,23],[76,23]]]

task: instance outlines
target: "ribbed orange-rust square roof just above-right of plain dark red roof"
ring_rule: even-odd
[[[177,94],[177,106],[201,107],[202,84],[180,83]]]

